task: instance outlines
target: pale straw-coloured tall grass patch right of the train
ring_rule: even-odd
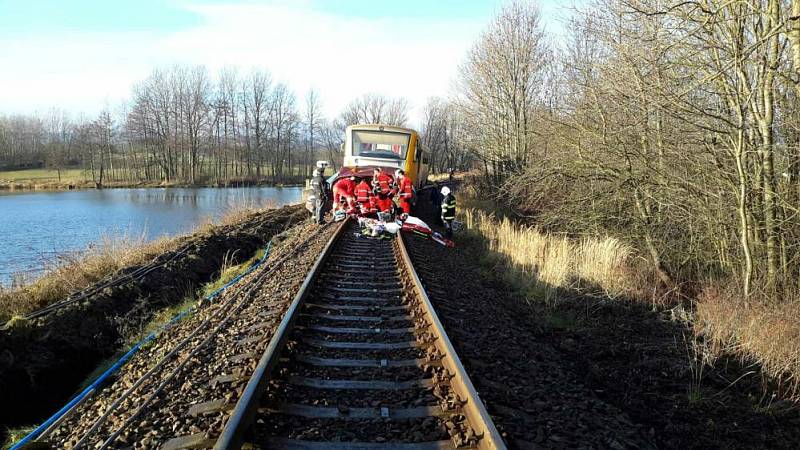
[[[497,219],[475,209],[462,211],[464,224],[480,234],[488,249],[513,267],[526,290],[552,300],[561,289],[618,297],[634,291],[628,262],[632,249],[612,237],[580,241],[543,233],[535,227]]]

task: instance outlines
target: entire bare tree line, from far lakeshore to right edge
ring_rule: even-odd
[[[660,283],[790,295],[800,275],[800,0],[591,0],[559,35],[512,1],[424,105],[433,171],[479,168],[518,214],[641,250]],[[125,111],[0,117],[0,167],[227,183],[307,176],[350,123],[408,125],[363,95],[335,119],[268,72],[157,69]]]

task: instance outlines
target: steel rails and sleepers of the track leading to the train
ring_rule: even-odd
[[[320,255],[215,448],[505,448],[402,239],[357,231]]]

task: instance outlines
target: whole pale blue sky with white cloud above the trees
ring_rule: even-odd
[[[93,114],[122,102],[154,67],[173,63],[211,72],[266,68],[298,96],[318,89],[330,114],[366,91],[420,106],[428,96],[447,95],[459,62],[502,3],[0,0],[0,113],[58,106]],[[540,1],[551,31],[559,31],[561,3]],[[365,50],[414,55],[427,73],[337,78],[341,72],[330,70]]]

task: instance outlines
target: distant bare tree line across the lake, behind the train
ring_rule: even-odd
[[[407,125],[409,104],[364,94],[337,118],[321,111],[318,92],[298,99],[265,70],[158,68],[113,113],[0,116],[0,170],[79,168],[98,186],[299,182],[317,159],[340,162],[345,126]]]

